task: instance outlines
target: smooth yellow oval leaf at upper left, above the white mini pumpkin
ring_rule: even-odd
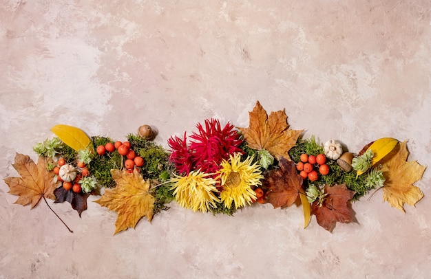
[[[90,137],[84,131],[74,126],[59,124],[53,126],[51,131],[74,150],[84,149],[91,142]]]

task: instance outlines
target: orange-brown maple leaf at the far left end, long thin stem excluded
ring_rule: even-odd
[[[47,160],[39,157],[37,164],[28,155],[17,153],[15,162],[12,164],[21,177],[7,177],[4,179],[8,184],[10,194],[19,196],[15,203],[20,205],[32,204],[32,208],[44,198],[55,199],[53,194],[56,188],[54,183],[54,172],[46,169]]]

